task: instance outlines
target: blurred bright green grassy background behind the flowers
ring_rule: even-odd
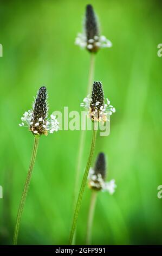
[[[86,4],[99,16],[101,34],[112,48],[96,55],[95,80],[116,108],[111,135],[99,137],[95,155],[108,159],[107,180],[118,188],[100,192],[93,244],[162,243],[161,173],[161,1],[0,1],[1,244],[11,244],[18,204],[33,147],[33,136],[18,126],[38,88],[46,85],[49,112],[81,111],[86,96],[89,57],[74,45],[82,31]],[[90,148],[87,132],[82,161]],[[73,190],[80,131],[42,136],[22,216],[18,244],[67,244],[73,216]],[[93,160],[93,162],[94,162]],[[84,244],[89,189],[83,197],[76,243]]]

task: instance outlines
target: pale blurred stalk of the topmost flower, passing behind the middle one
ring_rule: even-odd
[[[93,83],[93,77],[94,77],[94,65],[95,64],[95,53],[90,53],[90,66],[89,66],[89,76],[88,76],[88,86],[87,86],[87,92],[90,94],[92,90],[92,83]],[[76,194],[79,187],[79,178],[80,178],[80,170],[81,170],[81,162],[82,162],[82,155],[83,155],[83,149],[85,146],[85,139],[86,139],[86,131],[81,131],[80,136],[80,143],[79,143],[79,154],[77,157],[77,166],[76,166],[76,178],[75,178],[75,186],[74,186],[74,205],[76,202]]]

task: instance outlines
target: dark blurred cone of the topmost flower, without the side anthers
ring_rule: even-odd
[[[99,50],[99,26],[91,4],[86,7],[85,31],[87,38],[87,50],[97,52]]]

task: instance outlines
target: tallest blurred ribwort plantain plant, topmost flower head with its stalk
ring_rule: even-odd
[[[75,44],[79,45],[81,48],[87,49],[87,51],[90,53],[90,66],[87,86],[87,94],[90,94],[90,92],[92,91],[92,83],[94,79],[95,54],[100,50],[100,48],[112,47],[112,42],[106,39],[106,36],[100,35],[98,17],[96,16],[93,7],[90,4],[86,6],[86,14],[85,19],[83,21],[83,32],[77,35],[75,39]],[[79,187],[79,178],[82,154],[85,145],[85,136],[86,132],[81,131],[79,153],[77,157],[76,166],[74,195],[77,194],[77,188]]]

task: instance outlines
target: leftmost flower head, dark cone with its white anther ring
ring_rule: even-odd
[[[50,119],[48,117],[48,102],[47,102],[47,88],[45,86],[38,90],[36,99],[33,103],[33,109],[26,111],[21,118],[22,123],[20,126],[29,127],[29,130],[34,135],[48,135],[54,131],[58,131],[59,123],[56,117],[51,114]]]

